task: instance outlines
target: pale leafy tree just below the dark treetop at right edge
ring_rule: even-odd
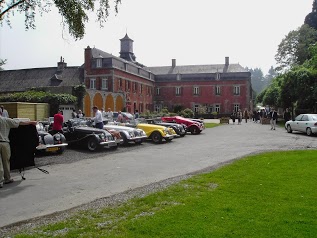
[[[317,30],[304,24],[295,31],[290,31],[279,44],[275,60],[279,72],[285,72],[295,65],[303,64],[310,58],[309,46],[317,42]]]

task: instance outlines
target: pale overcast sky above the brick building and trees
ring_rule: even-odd
[[[26,31],[23,15],[12,28],[0,27],[4,69],[68,66],[84,62],[89,45],[119,56],[120,39],[134,40],[136,60],[146,66],[223,64],[262,68],[275,66],[278,44],[304,23],[313,0],[122,0],[119,13],[103,28],[92,18],[86,36],[75,41],[63,30],[56,9],[36,16],[36,30]]]

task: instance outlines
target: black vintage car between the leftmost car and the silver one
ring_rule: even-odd
[[[63,133],[67,143],[72,145],[84,146],[90,151],[97,148],[114,148],[122,140],[116,140],[108,131],[87,126],[87,121],[81,119],[70,119],[65,123]]]

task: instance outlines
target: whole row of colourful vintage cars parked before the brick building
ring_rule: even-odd
[[[129,113],[122,113],[124,123],[104,120],[104,128],[97,129],[90,118],[70,119],[64,123],[63,133],[50,134],[51,122],[37,125],[39,146],[37,151],[62,153],[66,146],[78,146],[89,151],[100,147],[116,149],[119,145],[142,144],[146,140],[161,143],[175,137],[184,137],[187,133],[199,134],[204,123],[198,119],[180,116],[134,119]]]

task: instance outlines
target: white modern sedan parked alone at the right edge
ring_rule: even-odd
[[[300,114],[294,120],[287,121],[285,129],[288,133],[300,131],[308,136],[317,134],[317,114]]]

